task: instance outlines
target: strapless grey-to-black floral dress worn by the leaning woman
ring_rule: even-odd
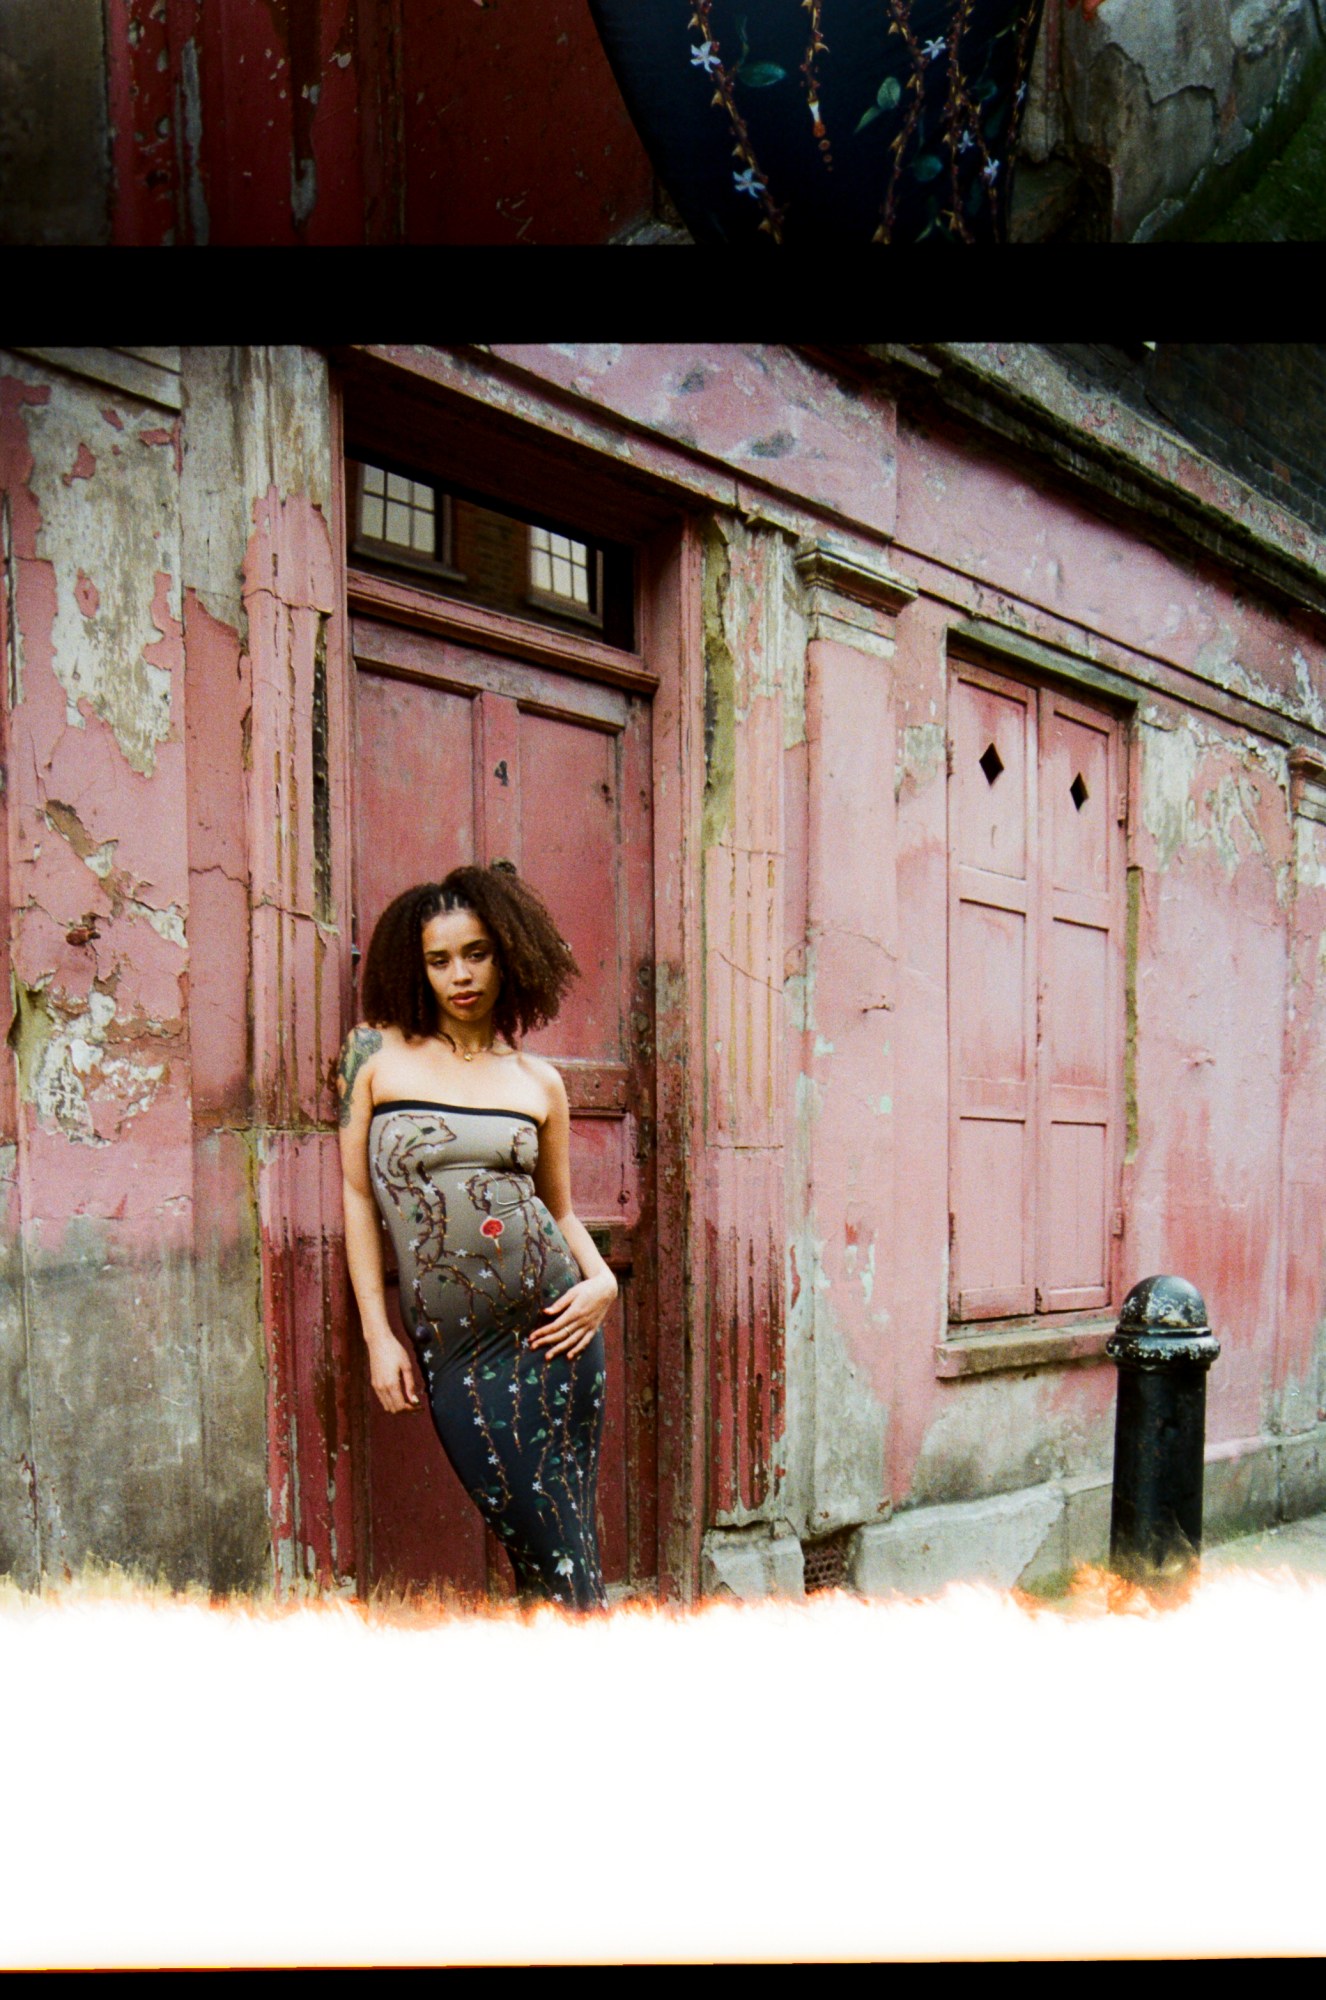
[[[602,1606],[602,1332],[572,1362],[528,1344],[542,1308],[580,1282],[534,1194],[538,1126],[516,1112],[378,1104],[368,1162],[446,1456],[526,1602]]]

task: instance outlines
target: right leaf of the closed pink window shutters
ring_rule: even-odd
[[[1040,694],[1040,1240],[1036,1310],[1110,1300],[1122,1066],[1118,722]]]

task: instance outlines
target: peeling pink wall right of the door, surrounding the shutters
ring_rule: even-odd
[[[754,1154],[778,1148],[786,1420],[768,1490],[742,1488],[750,1438],[720,1358],[710,1582],[794,1588],[798,1540],[834,1530],[854,1530],[850,1574],[872,1586],[942,1580],[946,1564],[956,1574],[974,1560],[1034,1578],[1104,1552],[1112,1316],[1050,1328],[1016,1364],[956,1360],[948,1338],[954,646],[992,648],[1004,672],[1058,674],[1132,716],[1124,1284],[1190,1276],[1224,1340],[1212,1530],[1322,1504],[1320,820],[1290,804],[1290,746],[1318,742],[1326,714],[1318,618],[1214,556],[1140,538],[1114,496],[1106,512],[1046,478],[1034,448],[1010,454],[920,404],[900,420],[882,390],[858,386],[832,456],[810,460],[844,384],[798,378],[770,466],[744,440],[756,422],[768,430],[754,412],[776,370],[752,370],[746,350],[718,374],[712,354],[692,352],[498,354],[520,384],[500,388],[512,404],[532,408],[544,378],[582,422],[602,410],[636,438],[680,436],[744,474],[744,522],[720,520],[708,544],[706,880],[726,868],[724,898],[706,894],[710,1138],[714,1106],[732,1106],[742,1080],[754,1088],[758,1064],[740,1066],[778,946],[786,1072],[782,1124],[760,1096],[734,1136],[750,1186],[732,1178],[736,1162],[704,1184],[710,1236],[730,1238],[708,1266],[708,1328],[726,1338],[736,1286],[724,1272],[762,1268]],[[1052,408],[1058,390],[1036,394]],[[1182,482],[1204,532],[1224,512],[1306,550],[1290,520],[1176,452],[1152,420],[1064,406],[1054,422],[1064,440],[1090,422],[1102,456]],[[812,554],[816,540],[832,560]],[[774,690],[780,774],[758,712]],[[1310,804],[1316,780],[1296,782]],[[746,866],[736,910],[734,848],[742,862],[768,856],[758,890]]]

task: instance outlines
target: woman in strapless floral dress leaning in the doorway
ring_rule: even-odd
[[[372,1388],[418,1408],[386,1318],[378,1210],[438,1436],[522,1602],[604,1606],[594,1486],[616,1278],[570,1202],[566,1088],[518,1038],[578,968],[510,866],[396,898],[340,1056],[346,1252]]]

